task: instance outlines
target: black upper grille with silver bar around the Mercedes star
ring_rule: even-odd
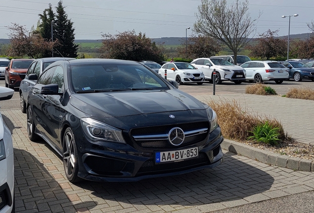
[[[176,125],[164,125],[164,126],[154,126],[154,127],[145,127],[145,128],[137,128],[132,129],[130,134],[132,136],[132,140],[142,148],[150,148],[150,149],[165,149],[165,148],[173,148],[174,146],[170,144],[168,141],[168,133],[174,128],[179,127],[185,133],[185,139],[183,143],[176,147],[182,147],[189,144],[194,144],[197,142],[201,142],[206,139],[209,130],[209,122],[197,122],[197,123],[186,123],[186,124],[176,124]],[[201,131],[199,134],[187,134],[191,131]],[[150,138],[150,136],[157,136],[155,139]],[[160,137],[159,137],[160,136]],[[139,137],[143,137],[139,139]]]

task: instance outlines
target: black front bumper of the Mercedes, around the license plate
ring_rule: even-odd
[[[76,141],[79,137],[81,136],[76,136]],[[78,176],[93,181],[138,181],[213,168],[223,162],[220,147],[223,140],[221,129],[218,127],[202,142],[167,149],[181,150],[197,146],[197,158],[168,163],[155,163],[155,151],[160,151],[158,149],[137,150],[129,144],[113,142],[90,143],[91,146],[81,146],[79,150]]]

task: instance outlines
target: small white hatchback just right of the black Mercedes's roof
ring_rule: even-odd
[[[165,72],[167,73],[167,80],[175,80],[179,84],[202,84],[205,81],[205,76],[202,71],[185,62],[166,63],[158,70],[158,74],[165,77]]]

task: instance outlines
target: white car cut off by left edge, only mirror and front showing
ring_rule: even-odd
[[[0,101],[12,98],[13,89],[0,87]],[[10,130],[0,113],[0,213],[14,213],[14,158]]]

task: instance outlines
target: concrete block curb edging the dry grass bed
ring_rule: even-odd
[[[246,145],[244,143],[230,141],[228,139],[225,139],[221,143],[221,148],[265,164],[292,170],[314,172],[314,160],[279,155]]]

